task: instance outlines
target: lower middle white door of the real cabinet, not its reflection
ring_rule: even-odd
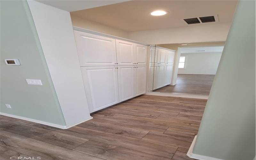
[[[134,70],[133,66],[118,66],[119,101],[134,97]]]

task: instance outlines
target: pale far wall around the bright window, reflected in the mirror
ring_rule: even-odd
[[[186,57],[185,68],[179,68],[178,74],[215,75],[221,57],[217,53],[181,53]]]

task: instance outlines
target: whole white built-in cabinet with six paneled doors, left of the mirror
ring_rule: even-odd
[[[90,113],[146,93],[147,45],[74,33]]]

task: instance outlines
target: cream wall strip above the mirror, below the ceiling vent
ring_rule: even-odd
[[[231,23],[130,32],[128,39],[146,44],[172,44],[225,41]]]

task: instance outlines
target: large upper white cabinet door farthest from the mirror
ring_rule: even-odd
[[[114,66],[115,39],[74,31],[80,66]]]

